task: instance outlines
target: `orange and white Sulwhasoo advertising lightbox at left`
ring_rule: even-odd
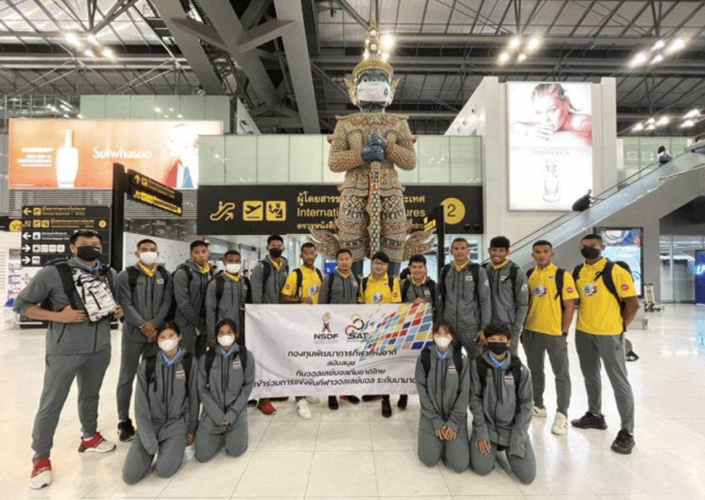
[[[198,187],[198,136],[220,121],[11,120],[10,188],[109,189],[113,164],[171,188]]]

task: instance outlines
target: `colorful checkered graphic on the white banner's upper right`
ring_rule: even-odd
[[[399,309],[386,315],[378,324],[370,324],[365,331],[360,360],[372,353],[390,350],[421,350],[433,340],[433,310],[427,304],[402,304]]]

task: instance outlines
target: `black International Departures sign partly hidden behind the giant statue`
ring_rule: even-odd
[[[444,205],[447,233],[483,232],[482,186],[407,185],[404,202],[412,231],[423,231],[424,217]],[[333,231],[339,205],[340,193],[333,184],[258,184],[256,189],[252,185],[201,185],[197,231],[209,235]]]

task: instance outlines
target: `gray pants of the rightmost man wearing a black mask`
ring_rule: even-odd
[[[627,378],[624,334],[592,335],[578,330],[575,332],[575,349],[585,379],[589,412],[595,415],[602,413],[600,369],[604,364],[615,393],[622,429],[634,432],[634,394]]]

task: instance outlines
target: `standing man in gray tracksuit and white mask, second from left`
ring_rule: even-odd
[[[171,307],[171,274],[157,265],[157,243],[144,239],[137,243],[137,264],[118,274],[118,303],[125,312],[120,374],[118,376],[118,433],[121,441],[135,436],[130,420],[130,398],[140,356],[156,353],[157,329]]]

